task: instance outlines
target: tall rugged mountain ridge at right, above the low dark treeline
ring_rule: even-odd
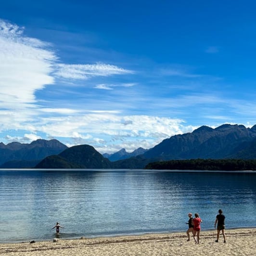
[[[225,124],[218,128],[202,126],[192,133],[175,135],[142,154],[147,159],[256,158],[256,126]],[[250,152],[250,154],[249,154]]]

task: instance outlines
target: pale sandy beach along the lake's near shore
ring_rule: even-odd
[[[200,243],[186,233],[86,238],[36,243],[0,244],[0,256],[253,256],[256,229],[226,230],[227,243],[216,230],[201,231]]]

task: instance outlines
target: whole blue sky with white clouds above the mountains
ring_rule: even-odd
[[[253,0],[3,0],[0,142],[149,149],[256,124]]]

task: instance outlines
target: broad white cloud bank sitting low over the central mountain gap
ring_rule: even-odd
[[[73,141],[72,144],[91,144],[104,153],[114,152],[121,145],[128,150],[139,146],[153,147],[162,140],[184,131],[192,131],[195,127],[184,127],[183,120],[148,115],[121,116],[111,113],[93,113],[61,118],[44,119],[40,131],[58,138]],[[76,131],[76,132],[74,132]],[[108,149],[106,149],[108,145]]]

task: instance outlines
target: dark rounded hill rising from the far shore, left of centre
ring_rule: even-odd
[[[74,166],[74,167],[71,167]],[[90,145],[78,145],[51,155],[38,163],[35,168],[112,168],[111,162]]]

